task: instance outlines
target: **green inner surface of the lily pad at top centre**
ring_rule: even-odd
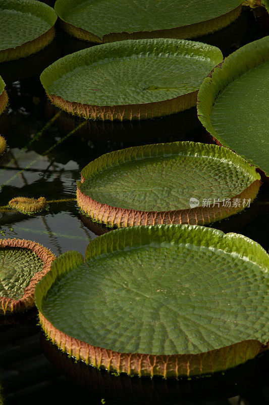
[[[112,32],[182,27],[222,16],[241,0],[57,0],[55,10],[69,24],[102,38]]]

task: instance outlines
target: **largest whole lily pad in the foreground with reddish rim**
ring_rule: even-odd
[[[269,255],[189,225],[118,229],[56,259],[36,287],[52,342],[109,371],[226,370],[268,348]]]

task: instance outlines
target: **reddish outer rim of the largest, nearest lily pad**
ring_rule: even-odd
[[[53,344],[77,360],[98,369],[138,376],[190,377],[227,370],[245,363],[269,348],[258,340],[246,340],[199,354],[154,355],[120,353],[92,346],[56,329],[39,311],[39,323]]]

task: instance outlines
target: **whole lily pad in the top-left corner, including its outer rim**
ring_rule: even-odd
[[[0,0],[0,62],[43,49],[55,36],[55,11],[36,0]]]

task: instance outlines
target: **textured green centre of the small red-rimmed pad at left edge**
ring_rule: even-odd
[[[0,296],[19,300],[43,261],[30,249],[0,248]]]

